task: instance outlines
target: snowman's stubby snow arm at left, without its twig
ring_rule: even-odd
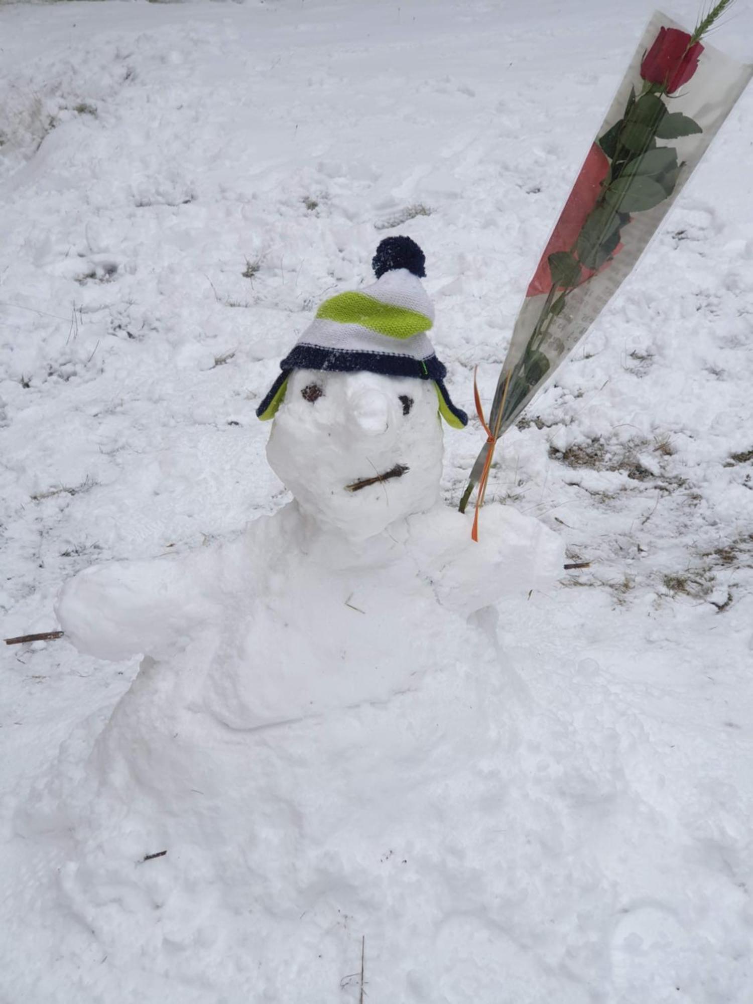
[[[55,604],[66,638],[79,652],[117,661],[163,656],[211,615],[203,586],[216,580],[215,549],[152,561],[108,561],[69,579]]]

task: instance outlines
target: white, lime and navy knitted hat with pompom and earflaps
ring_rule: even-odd
[[[450,399],[447,369],[426,334],[434,323],[434,307],[421,284],[426,275],[423,251],[410,237],[388,237],[371,264],[376,282],[324,300],[280,362],[282,372],[256,410],[262,422],[280,407],[292,369],[366,369],[434,381],[440,415],[456,429],[467,425],[468,416]]]

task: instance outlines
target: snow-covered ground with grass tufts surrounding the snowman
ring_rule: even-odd
[[[388,234],[427,253],[454,399],[470,410],[476,363],[490,395],[650,13],[2,7],[3,637],[54,629],[61,582],[93,562],[229,540],[280,506],[254,409]],[[741,5],[713,42],[749,58],[751,30]],[[464,748],[458,711],[423,838],[390,818],[354,862],[347,830],[329,848],[293,834],[301,890],[319,884],[307,916],[265,903],[244,945],[202,886],[183,906],[203,941],[156,924],[149,951],[118,944],[112,911],[141,908],[76,909],[70,847],[19,818],[71,736],[75,776],[138,661],[64,640],[3,652],[2,1004],[357,1001],[361,938],[371,1001],[753,999],[752,102],[498,452],[487,498],[589,566],[500,606],[498,746]],[[475,421],[446,433],[448,503],[482,439]],[[342,736],[322,741],[334,756]],[[398,804],[425,770],[408,765]],[[288,851],[269,847],[270,871]],[[169,899],[170,854],[139,866]]]

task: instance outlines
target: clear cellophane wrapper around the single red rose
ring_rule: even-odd
[[[568,250],[570,241],[578,239],[601,194],[601,182],[610,170],[610,160],[598,141],[600,139],[608,150],[609,130],[618,128],[617,123],[626,118],[625,111],[632,95],[634,100],[636,95],[641,96],[645,87],[641,75],[642,63],[652,50],[662,28],[684,30],[659,11],[653,15],[528,286],[487,422],[489,429],[494,432],[494,439],[515,422],[541,385],[572,351],[633,271],[753,74],[753,66],[740,64],[704,42],[703,52],[692,78],[677,92],[665,93],[657,98],[665,103],[667,113],[687,116],[700,127],[701,132],[672,139],[657,138],[644,146],[637,145],[635,137],[633,138],[631,156],[635,159],[643,157],[647,170],[652,167],[650,162],[653,162],[654,176],[648,174],[648,183],[642,180],[638,186],[635,179],[634,182],[625,181],[622,186],[623,198],[611,200],[611,220],[596,235],[597,242],[601,242],[601,253],[598,253],[599,249],[593,242],[588,247],[589,242],[585,241],[586,253],[583,257],[593,267],[581,266],[574,287],[557,285],[552,288],[551,259],[548,256],[554,252],[563,257],[562,252]],[[669,132],[673,130],[670,129]],[[652,150],[659,153],[651,153]],[[671,150],[677,152],[676,167],[673,167]],[[662,151],[667,153],[663,154]],[[650,153],[651,156],[646,157]],[[667,184],[670,191],[664,194],[657,205],[641,209],[642,205],[650,205],[654,201],[651,195],[656,190],[652,188],[652,184],[657,181],[657,176],[659,182]],[[668,178],[671,178],[669,182]],[[612,227],[612,232],[607,232],[609,226]],[[605,252],[608,252],[608,256],[604,259]],[[563,264],[566,270],[566,257],[563,258]],[[562,293],[565,295],[562,296]],[[560,304],[556,304],[557,299],[561,300]],[[556,315],[550,312],[552,305],[555,309],[559,306]],[[546,316],[543,328],[540,323],[542,315]],[[487,442],[479,454],[471,473],[469,489],[482,477],[493,445],[492,442]],[[464,502],[468,494],[467,492]]]

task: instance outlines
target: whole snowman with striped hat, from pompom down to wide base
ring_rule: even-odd
[[[427,334],[424,255],[391,237],[372,264],[373,284],[319,307],[259,406],[292,501],[232,542],[86,569],[60,594],[82,653],[142,656],[61,796],[68,907],[108,951],[167,940],[184,969],[210,965],[233,951],[231,917],[239,958],[251,944],[270,961],[270,917],[324,924],[332,889],[338,911],[372,911],[363,861],[396,830],[426,833],[463,765],[507,741],[495,603],[551,588],[562,546],[504,506],[474,543],[439,502],[442,420],[467,418]],[[136,866],[163,849],[159,881]]]

